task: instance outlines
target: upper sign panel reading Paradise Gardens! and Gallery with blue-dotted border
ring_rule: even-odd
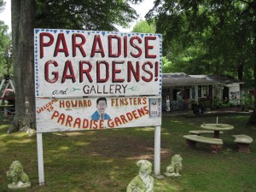
[[[36,97],[161,94],[161,35],[35,29]]]

